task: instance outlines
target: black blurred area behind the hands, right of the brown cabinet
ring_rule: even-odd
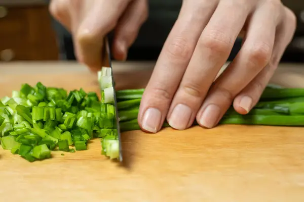
[[[142,26],[137,40],[129,49],[128,60],[156,60],[160,54],[163,43],[172,28],[181,6],[181,0],[149,1],[149,17]],[[284,5],[292,9],[297,16],[297,30],[293,41],[287,47],[282,62],[304,62],[304,1],[283,1]],[[61,38],[62,57],[74,60],[72,40],[66,31],[62,31],[57,22],[54,21],[57,33]],[[238,53],[241,39],[235,43],[229,60]]]

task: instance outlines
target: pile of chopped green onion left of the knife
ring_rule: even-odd
[[[95,92],[83,89],[67,93],[41,82],[23,84],[20,91],[0,102],[3,149],[33,162],[50,158],[51,150],[73,153],[72,146],[86,150],[88,141],[96,137],[101,138],[103,155],[118,158],[115,107],[108,93],[108,89],[102,90],[100,102]]]

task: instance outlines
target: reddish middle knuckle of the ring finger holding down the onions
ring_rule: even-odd
[[[271,47],[267,43],[253,45],[248,53],[248,60],[254,66],[265,66],[269,63],[271,57]]]

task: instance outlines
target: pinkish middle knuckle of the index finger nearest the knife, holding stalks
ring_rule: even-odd
[[[167,51],[173,59],[189,59],[192,55],[192,48],[189,46],[188,40],[184,37],[175,37],[169,43]]]

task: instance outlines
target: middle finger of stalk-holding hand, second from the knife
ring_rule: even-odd
[[[229,57],[250,12],[251,8],[245,5],[237,4],[236,1],[219,3],[200,36],[175,93],[168,113],[171,127],[183,130],[192,125],[210,85]]]

